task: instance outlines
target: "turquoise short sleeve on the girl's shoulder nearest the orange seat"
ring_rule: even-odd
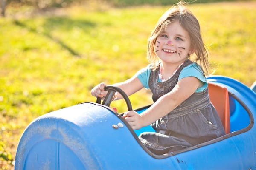
[[[201,67],[198,64],[196,64],[195,62],[186,66],[185,68],[182,69],[182,71],[180,71],[180,76],[179,76],[178,80],[183,79],[185,77],[196,77],[201,82],[204,83],[204,85],[202,85],[200,88],[198,88],[195,92],[203,91],[204,89],[206,89],[208,87],[208,83],[206,81],[206,78],[203,74]]]

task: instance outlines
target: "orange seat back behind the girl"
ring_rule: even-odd
[[[208,82],[208,93],[210,101],[221,119],[226,134],[230,133],[230,108],[227,88]]]

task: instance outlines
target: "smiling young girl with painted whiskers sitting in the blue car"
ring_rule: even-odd
[[[156,130],[140,134],[141,142],[152,152],[163,154],[223,136],[221,120],[209,100],[205,78],[208,54],[200,26],[184,3],[173,6],[158,20],[148,39],[148,59],[150,65],[114,84],[128,96],[143,87],[153,94],[154,104],[146,111],[123,115],[133,129],[151,124]],[[91,94],[104,97],[105,86],[100,83]],[[120,98],[119,94],[115,97]]]

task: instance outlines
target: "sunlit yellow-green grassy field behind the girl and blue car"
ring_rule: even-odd
[[[0,169],[11,169],[23,130],[36,117],[95,102],[99,82],[123,81],[148,62],[147,38],[170,6],[35,12],[9,8],[0,18]],[[256,1],[192,4],[214,74],[250,86],[256,80]],[[151,103],[143,90],[133,108]],[[120,112],[123,101],[113,103]]]

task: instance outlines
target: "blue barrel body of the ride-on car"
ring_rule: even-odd
[[[230,92],[232,133],[176,153],[154,155],[137,138],[152,130],[150,126],[134,132],[111,108],[85,102],[31,122],[20,138],[15,170],[256,169],[256,93],[228,77],[207,79]],[[118,123],[124,126],[112,127]]]

